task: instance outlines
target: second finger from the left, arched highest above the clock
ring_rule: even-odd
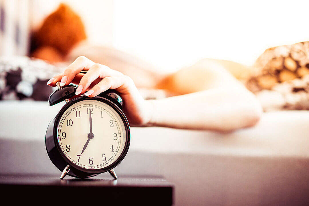
[[[66,68],[66,70],[64,70],[60,86],[70,84],[74,79],[75,75],[80,73],[80,71],[82,71],[83,69],[88,70],[94,64],[95,63],[93,61],[84,56],[77,57],[75,61],[73,61],[73,63],[70,64],[68,68]]]

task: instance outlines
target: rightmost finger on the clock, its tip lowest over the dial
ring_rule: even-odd
[[[85,95],[88,97],[95,97],[108,89],[116,89],[125,94],[127,92],[129,93],[133,88],[135,88],[134,82],[128,76],[111,76],[103,78],[99,83],[88,90]]]

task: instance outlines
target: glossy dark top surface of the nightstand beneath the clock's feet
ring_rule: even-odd
[[[66,176],[60,179],[55,174],[0,174],[0,185],[74,186],[74,187],[173,187],[162,176],[109,175],[79,179]]]

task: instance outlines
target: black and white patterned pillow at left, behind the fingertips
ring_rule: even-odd
[[[47,81],[62,69],[24,56],[0,57],[0,100],[47,101]]]

